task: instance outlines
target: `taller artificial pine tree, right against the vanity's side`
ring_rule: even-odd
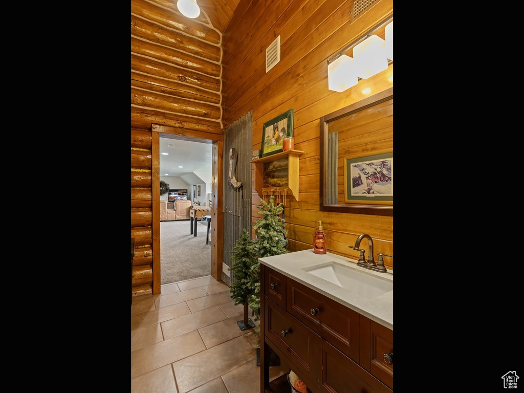
[[[249,306],[253,310],[255,321],[260,320],[260,263],[258,258],[270,257],[289,253],[286,247],[285,236],[288,231],[281,226],[280,214],[283,211],[283,203],[275,206],[275,196],[269,197],[269,204],[261,200],[262,205],[257,206],[258,214],[263,217],[258,219],[253,226],[257,238],[253,241],[253,254],[257,261],[250,268],[251,276],[249,288],[252,290],[249,297]],[[260,325],[255,329],[260,334]]]

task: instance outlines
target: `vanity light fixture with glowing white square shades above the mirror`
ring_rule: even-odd
[[[359,79],[367,79],[388,68],[393,57],[392,19],[393,15],[389,16],[328,59],[329,90],[343,92],[358,84]],[[387,43],[375,34],[380,31],[385,32]],[[389,46],[391,53],[387,49]],[[353,58],[344,54],[352,48]]]

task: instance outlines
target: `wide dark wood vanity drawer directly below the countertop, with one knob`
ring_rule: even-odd
[[[358,362],[360,315],[289,277],[286,281],[286,310]]]

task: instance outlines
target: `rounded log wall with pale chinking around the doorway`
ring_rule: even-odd
[[[190,19],[176,2],[131,1],[134,294],[152,292],[152,248],[159,236],[152,224],[151,124],[171,126],[172,134],[222,140],[221,40],[205,12]]]

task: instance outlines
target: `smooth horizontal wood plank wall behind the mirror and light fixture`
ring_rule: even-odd
[[[322,220],[328,251],[358,259],[348,248],[361,233],[374,239],[375,254],[393,253],[392,217],[320,212],[319,118],[392,87],[393,65],[357,86],[328,90],[326,60],[393,12],[392,0],[373,3],[350,23],[350,0],[242,0],[223,35],[223,125],[253,109],[253,149],[261,145],[264,122],[294,108],[295,148],[300,159],[299,202],[288,198],[286,229],[291,251],[310,249]],[[265,16],[265,17],[261,17]],[[256,28],[254,28],[256,26]],[[265,50],[280,35],[280,62],[265,71]],[[391,79],[392,80],[392,79]],[[253,188],[254,190],[254,188]],[[253,194],[253,222],[258,194]],[[366,248],[363,242],[363,247]],[[385,259],[392,269],[392,260]]]

